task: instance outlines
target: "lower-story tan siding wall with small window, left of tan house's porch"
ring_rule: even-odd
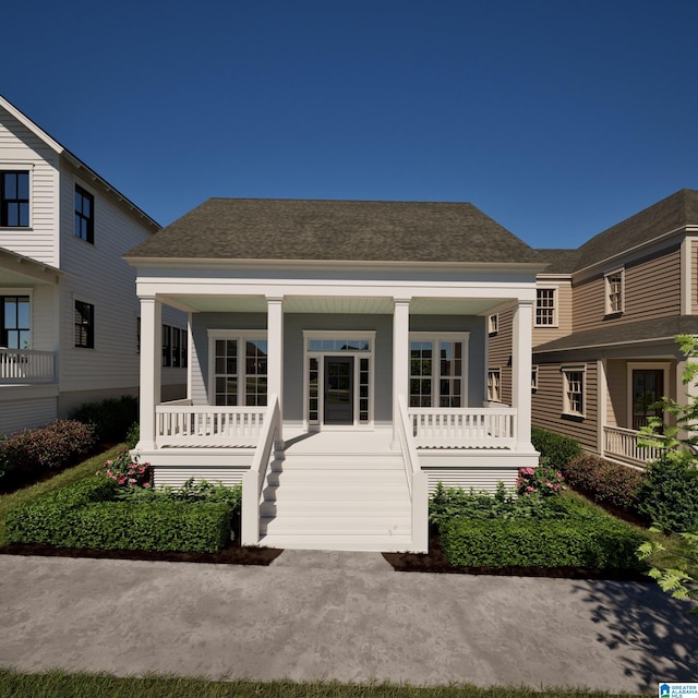
[[[538,386],[533,394],[532,408],[533,426],[546,429],[558,434],[565,434],[577,440],[583,448],[597,450],[598,410],[598,377],[597,363],[591,361],[586,365],[585,381],[585,417],[583,419],[566,418],[563,416],[563,375],[562,368],[567,363],[538,364]],[[575,362],[575,365],[578,365]]]

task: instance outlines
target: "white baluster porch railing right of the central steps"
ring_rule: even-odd
[[[516,409],[425,408],[408,410],[418,448],[512,448],[516,444]]]

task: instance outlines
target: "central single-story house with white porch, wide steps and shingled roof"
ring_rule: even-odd
[[[131,250],[156,484],[243,484],[242,541],[426,550],[428,491],[513,485],[530,441],[537,253],[470,204],[213,198]],[[189,313],[159,399],[160,306]],[[513,399],[486,401],[513,308]]]

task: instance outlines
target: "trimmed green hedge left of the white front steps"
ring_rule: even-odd
[[[231,539],[225,503],[112,501],[116,486],[91,478],[11,512],[10,543],[59,547],[215,553]]]

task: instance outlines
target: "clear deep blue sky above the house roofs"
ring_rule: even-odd
[[[209,196],[469,201],[577,246],[698,189],[696,0],[32,0],[3,94],[166,225]]]

